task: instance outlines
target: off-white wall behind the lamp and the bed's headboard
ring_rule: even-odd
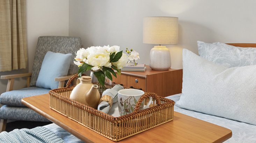
[[[149,63],[154,46],[142,43],[142,18],[179,17],[178,45],[167,45],[172,68],[182,68],[182,48],[197,51],[205,42],[256,43],[255,0],[70,0],[69,35],[83,47],[120,45],[136,49]]]

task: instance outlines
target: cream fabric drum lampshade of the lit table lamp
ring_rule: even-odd
[[[144,17],[143,43],[178,44],[178,17]]]

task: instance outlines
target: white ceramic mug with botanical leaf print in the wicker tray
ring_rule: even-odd
[[[137,101],[145,92],[137,89],[123,89],[118,91],[118,110],[120,116],[132,113]],[[146,109],[152,103],[152,97],[149,97],[149,102],[145,107],[141,106],[140,109]],[[142,102],[142,105],[143,102]]]

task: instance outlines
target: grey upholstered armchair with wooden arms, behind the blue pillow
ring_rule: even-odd
[[[41,36],[38,37],[35,59],[32,73],[15,74],[1,76],[1,79],[8,79],[5,93],[0,95],[0,132],[5,131],[7,119],[26,120],[26,121],[49,121],[35,111],[25,107],[21,99],[29,96],[46,94],[50,89],[36,87],[37,77],[47,51],[59,53],[72,53],[75,58],[75,51],[81,48],[80,37],[70,36]],[[51,72],[51,71],[49,71]],[[78,72],[78,67],[71,62],[68,76],[57,77],[55,81],[59,82],[59,87],[64,87],[65,81]],[[27,77],[27,88],[13,90],[14,78]],[[38,101],[40,102],[40,101]]]

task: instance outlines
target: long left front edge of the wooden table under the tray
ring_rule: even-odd
[[[68,128],[68,126],[66,126],[65,124],[62,124],[60,123],[59,121],[56,121],[56,119],[54,119],[53,117],[47,115],[46,113],[44,113],[43,111],[41,110],[36,110],[34,106],[32,106],[30,103],[24,101],[23,99],[21,99],[21,103],[24,104],[25,106],[27,106],[28,108],[32,109],[33,111],[39,113],[40,115],[42,115],[43,117],[45,117],[46,119],[50,120],[52,123],[58,125],[59,127],[65,129],[67,132],[71,133],[72,135],[76,136],[77,138],[79,138],[80,140],[82,141],[86,141],[88,143],[93,143],[92,141],[88,140],[88,138],[76,133],[75,131],[73,130],[70,130]],[[49,105],[49,108],[50,108],[50,105]],[[58,112],[56,112],[58,113]]]

